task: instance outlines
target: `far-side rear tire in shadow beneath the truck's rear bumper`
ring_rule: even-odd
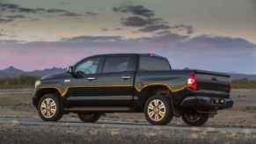
[[[181,118],[189,126],[202,126],[208,121],[208,114],[187,111],[183,113]]]

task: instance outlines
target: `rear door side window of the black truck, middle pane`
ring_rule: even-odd
[[[103,73],[128,71],[128,60],[127,56],[106,57]]]

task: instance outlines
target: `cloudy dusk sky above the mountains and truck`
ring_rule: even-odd
[[[156,53],[173,68],[256,74],[255,0],[0,0],[0,69]]]

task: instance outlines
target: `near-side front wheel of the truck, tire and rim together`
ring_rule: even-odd
[[[62,119],[63,108],[57,94],[46,94],[40,98],[38,104],[40,118],[45,121],[57,121]]]

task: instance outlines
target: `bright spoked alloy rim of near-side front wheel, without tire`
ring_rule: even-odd
[[[55,100],[52,98],[46,98],[40,104],[40,112],[45,118],[52,118],[55,116],[57,106]]]

